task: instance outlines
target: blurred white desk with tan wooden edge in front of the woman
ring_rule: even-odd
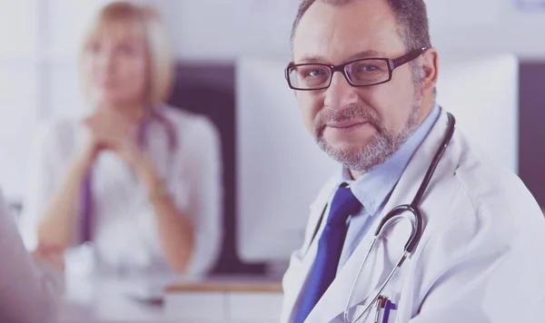
[[[145,287],[164,287],[163,304],[134,299]],[[60,323],[278,322],[280,282],[264,279],[67,279]]]

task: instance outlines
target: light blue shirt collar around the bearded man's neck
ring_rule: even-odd
[[[347,183],[350,185],[354,196],[371,216],[376,214],[384,202],[387,201],[391,191],[393,191],[393,188],[401,179],[403,171],[411,161],[412,155],[431,131],[440,114],[441,107],[435,103],[431,113],[412,132],[407,141],[401,144],[398,151],[394,152],[389,159],[372,169],[372,171],[364,173],[357,181],[352,180],[348,169],[342,168],[340,184]]]

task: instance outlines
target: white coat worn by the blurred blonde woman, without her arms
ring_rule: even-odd
[[[158,109],[173,125],[175,146],[173,150],[169,147],[164,123],[154,120],[145,132],[144,149],[175,205],[193,221],[195,243],[187,273],[200,276],[212,268],[223,238],[219,133],[204,116],[166,105]],[[38,133],[21,222],[27,248],[35,247],[37,225],[85,135],[80,120],[47,122]],[[171,272],[161,249],[154,209],[134,173],[114,153],[102,152],[92,174],[95,269]],[[82,242],[81,217],[76,223],[74,245]]]

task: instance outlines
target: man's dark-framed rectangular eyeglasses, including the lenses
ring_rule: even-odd
[[[293,64],[285,77],[293,90],[316,91],[328,88],[333,73],[341,72],[352,86],[371,86],[391,81],[393,70],[419,57],[428,47],[421,47],[396,59],[364,58],[342,65]]]

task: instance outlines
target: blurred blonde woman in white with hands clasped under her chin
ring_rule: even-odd
[[[158,13],[106,5],[80,68],[93,110],[38,136],[27,247],[91,241],[106,272],[207,273],[222,240],[220,139],[207,118],[164,103],[173,57]]]

